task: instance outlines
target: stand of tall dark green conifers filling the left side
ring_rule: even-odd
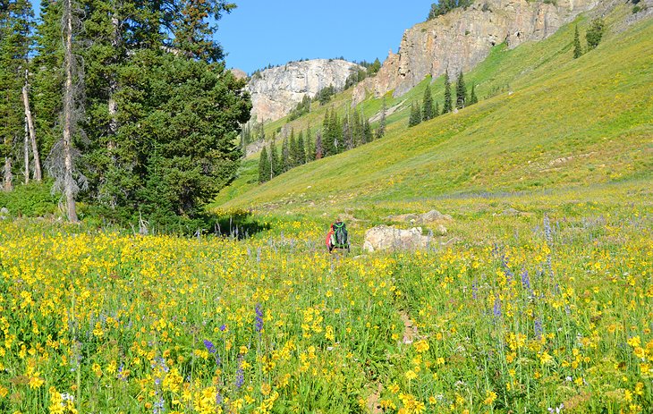
[[[60,0],[35,21],[30,0],[3,0],[3,189],[46,178],[72,222],[78,200],[118,223],[199,218],[233,180],[250,117],[212,22],[234,7]]]

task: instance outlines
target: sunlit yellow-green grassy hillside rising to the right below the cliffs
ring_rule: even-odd
[[[608,24],[623,19],[613,13]],[[649,182],[653,177],[653,21],[610,31],[597,49],[572,58],[575,24],[547,40],[509,50],[496,46],[465,74],[480,102],[457,114],[407,128],[411,100],[421,102],[429,79],[387,106],[383,139],[256,183],[258,156],[216,199],[222,207],[311,203],[346,206],[434,199],[460,193],[588,187]],[[431,88],[442,106],[443,79]],[[336,97],[342,113],[351,91]],[[380,99],[367,99],[367,116]],[[326,108],[293,123],[317,128]],[[269,125],[278,128],[284,121]],[[373,124],[374,126],[374,124]],[[285,207],[284,207],[285,208]]]

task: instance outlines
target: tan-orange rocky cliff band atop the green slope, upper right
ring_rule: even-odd
[[[477,0],[467,9],[420,23],[403,33],[399,52],[390,51],[376,77],[356,85],[354,103],[367,93],[379,97],[393,89],[395,97],[401,96],[427,75],[470,71],[492,46],[506,42],[512,48],[547,38],[597,4],[598,0]]]

